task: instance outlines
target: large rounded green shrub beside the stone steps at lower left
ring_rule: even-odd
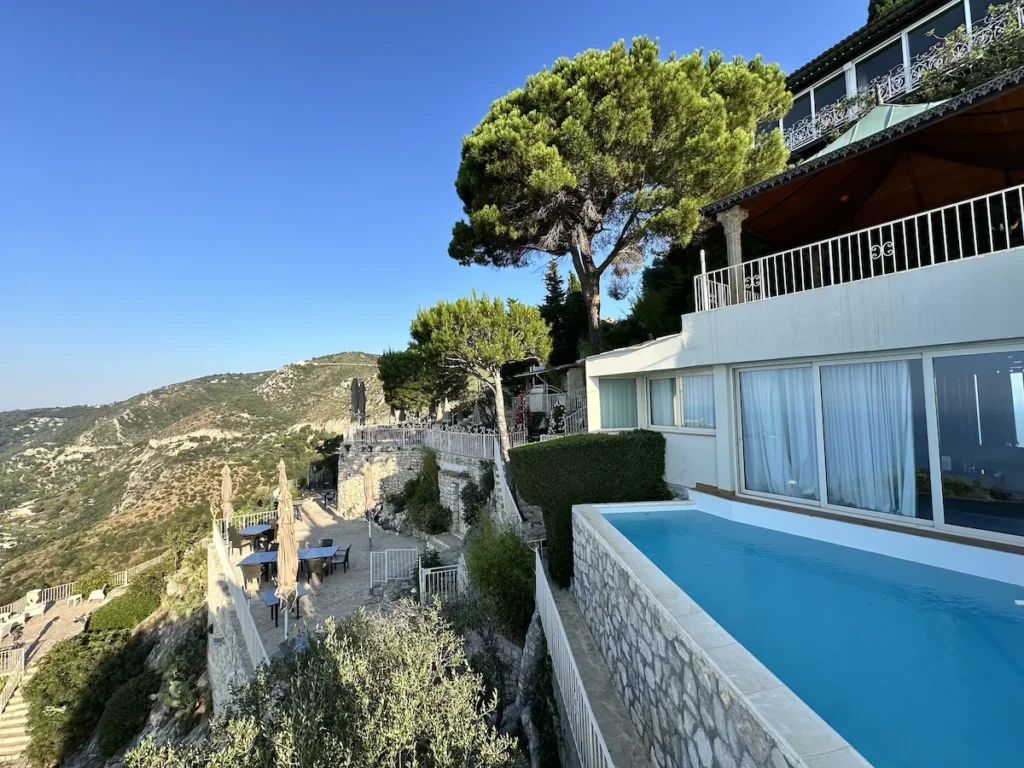
[[[128,632],[86,632],[57,643],[25,686],[29,760],[62,762],[89,738],[115,690],[142,674],[151,645]]]

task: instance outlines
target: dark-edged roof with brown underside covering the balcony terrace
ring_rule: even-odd
[[[851,138],[703,213],[785,248],[1024,183],[1024,68]]]

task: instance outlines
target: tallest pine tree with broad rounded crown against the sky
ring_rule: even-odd
[[[700,208],[784,169],[793,103],[777,65],[697,51],[667,59],[646,37],[560,58],[498,99],[463,139],[464,219],[449,255],[526,266],[569,257],[601,349],[601,278],[685,245]]]

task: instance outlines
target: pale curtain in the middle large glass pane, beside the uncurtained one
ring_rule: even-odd
[[[821,413],[829,504],[914,517],[909,362],[822,366]]]

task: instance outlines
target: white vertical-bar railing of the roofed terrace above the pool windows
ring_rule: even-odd
[[[1024,185],[693,279],[696,310],[763,301],[1024,246]]]

